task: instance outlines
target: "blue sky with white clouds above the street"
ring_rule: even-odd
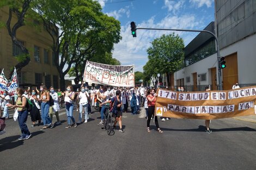
[[[173,31],[137,30],[132,37],[130,23],[137,28],[199,29],[214,21],[214,0],[96,0],[102,12],[121,23],[122,40],[114,45],[113,58],[121,65],[135,65],[135,71],[143,71],[148,61],[147,49],[154,39]],[[174,32],[184,40],[185,46],[198,33]]]

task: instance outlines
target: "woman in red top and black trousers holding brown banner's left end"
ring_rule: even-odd
[[[147,96],[147,99],[148,99],[147,131],[148,132],[150,132],[149,125],[150,125],[151,117],[154,116],[156,97],[157,97],[157,94],[155,93],[155,89],[150,89],[149,93],[150,93],[150,95]],[[157,120],[157,116],[155,116],[155,124],[156,124],[157,131],[159,133],[163,133],[163,131],[159,128],[159,123],[158,123],[158,120]]]

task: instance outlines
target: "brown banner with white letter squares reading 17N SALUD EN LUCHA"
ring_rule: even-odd
[[[157,90],[156,116],[217,119],[256,114],[256,86],[227,91]]]

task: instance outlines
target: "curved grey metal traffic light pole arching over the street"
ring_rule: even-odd
[[[216,41],[216,48],[217,48],[217,66],[218,66],[218,84],[219,84],[219,90],[223,90],[222,88],[222,77],[221,77],[221,68],[220,68],[220,60],[221,60],[221,55],[220,55],[220,47],[218,46],[218,38],[217,36],[209,32],[208,30],[193,30],[193,29],[162,29],[162,28],[136,28],[137,29],[148,29],[148,30],[171,30],[171,31],[178,31],[178,32],[200,32],[200,33],[209,33],[212,36],[214,36],[215,41]]]

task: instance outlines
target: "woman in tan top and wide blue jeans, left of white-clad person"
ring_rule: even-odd
[[[50,92],[46,90],[45,85],[40,86],[40,101],[41,101],[41,115],[42,122],[44,122],[44,127],[41,130],[47,129],[50,127],[52,129],[54,127],[54,123],[52,119],[49,117],[49,109],[50,109]]]

